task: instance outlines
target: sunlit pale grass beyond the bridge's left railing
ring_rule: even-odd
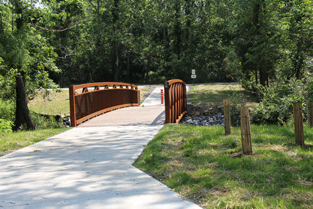
[[[150,88],[139,88],[141,100],[147,97]],[[70,99],[68,90],[38,91],[35,97],[29,101],[29,109],[38,114],[70,116]]]

